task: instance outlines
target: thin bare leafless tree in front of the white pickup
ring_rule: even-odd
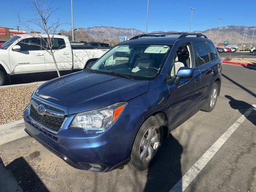
[[[51,16],[59,9],[59,8],[52,8],[52,4],[54,1],[48,2],[48,0],[30,0],[28,4],[31,5],[32,11],[35,14],[35,18],[29,19],[27,21],[22,21],[20,17],[20,13],[17,12],[18,19],[20,23],[28,28],[31,31],[37,31],[34,30],[31,25],[38,26],[45,34],[45,36],[42,36],[41,34],[36,34],[35,36],[39,36],[43,42],[41,47],[48,52],[52,56],[52,59],[54,61],[58,76],[60,77],[60,72],[54,57],[54,52],[56,50],[53,50],[54,46],[54,34],[58,30],[58,27],[60,26],[59,19],[56,22],[51,22],[50,18]]]

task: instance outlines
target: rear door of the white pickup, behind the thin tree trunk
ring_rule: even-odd
[[[63,38],[52,38],[52,50],[59,70],[72,69],[72,50],[69,42],[65,42]],[[49,50],[50,51],[50,50]],[[52,55],[44,50],[45,65],[47,71],[56,70]]]

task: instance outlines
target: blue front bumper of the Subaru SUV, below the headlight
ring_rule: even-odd
[[[135,133],[112,125],[101,133],[86,133],[70,129],[72,119],[67,118],[58,133],[50,132],[23,112],[25,131],[48,150],[74,168],[94,172],[107,172],[124,166],[130,160]]]

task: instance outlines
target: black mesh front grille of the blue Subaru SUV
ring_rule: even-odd
[[[30,116],[40,124],[54,131],[60,130],[64,122],[64,118],[57,118],[53,116],[38,114],[37,110],[33,106],[30,106]]]

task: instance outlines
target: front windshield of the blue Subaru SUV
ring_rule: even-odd
[[[152,80],[161,70],[170,48],[170,45],[152,44],[116,46],[95,62],[90,71]]]

